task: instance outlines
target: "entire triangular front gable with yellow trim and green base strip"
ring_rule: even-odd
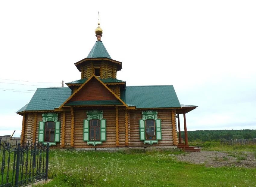
[[[92,75],[62,105],[122,105],[128,107],[98,77]]]

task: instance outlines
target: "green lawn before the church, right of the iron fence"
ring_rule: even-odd
[[[176,161],[174,154],[179,153],[51,150],[53,180],[38,186],[256,186],[255,169],[188,164]]]

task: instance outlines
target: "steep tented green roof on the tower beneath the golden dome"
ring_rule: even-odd
[[[105,46],[103,45],[102,41],[96,41],[92,50],[90,51],[87,58],[109,58],[111,59],[108,51],[106,50]]]

